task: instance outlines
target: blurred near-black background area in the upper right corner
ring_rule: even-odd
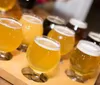
[[[100,0],[94,0],[87,15],[89,30],[100,33]]]

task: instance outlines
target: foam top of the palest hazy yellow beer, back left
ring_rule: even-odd
[[[22,18],[30,23],[33,23],[33,24],[42,24],[42,20],[37,18],[36,16],[32,16],[32,15],[26,15],[24,14],[22,16]]]

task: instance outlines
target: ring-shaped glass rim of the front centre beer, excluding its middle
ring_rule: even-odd
[[[37,42],[37,41],[38,41],[37,39],[46,39],[46,40],[49,40],[49,42],[52,42],[53,44],[55,44],[56,47],[55,47],[55,48],[47,47],[47,46],[45,46],[45,45],[43,45],[43,44]],[[55,39],[53,39],[53,38],[51,38],[51,37],[48,37],[48,36],[44,36],[44,35],[43,35],[43,36],[36,36],[36,37],[34,38],[34,42],[35,42],[36,44],[38,44],[39,46],[41,46],[41,47],[43,47],[43,48],[45,48],[45,49],[48,49],[48,50],[53,50],[53,51],[58,51],[58,50],[60,50],[60,43],[59,43],[57,40],[55,40]]]

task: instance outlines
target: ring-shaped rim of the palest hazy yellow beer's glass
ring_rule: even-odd
[[[32,19],[35,19],[35,20],[37,20],[37,21],[39,21],[39,22],[38,22],[38,23],[37,23],[37,22],[31,22],[30,20],[27,20],[27,18],[25,18],[25,16],[26,16],[26,17],[30,17],[30,18],[32,18]],[[40,18],[40,17],[38,17],[38,16],[36,16],[36,15],[23,14],[23,15],[22,15],[22,18],[23,18],[24,20],[30,22],[30,23],[33,23],[33,24],[43,24],[43,19]]]

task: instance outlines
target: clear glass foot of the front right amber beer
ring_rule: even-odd
[[[77,82],[80,82],[80,83],[84,83],[84,82],[86,82],[88,80],[88,78],[85,78],[83,76],[77,75],[73,70],[66,70],[65,73],[73,81],[77,81]]]

